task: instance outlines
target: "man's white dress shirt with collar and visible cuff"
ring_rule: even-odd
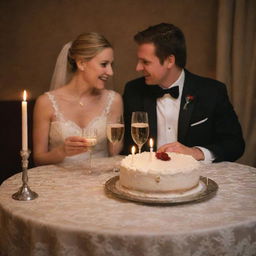
[[[178,140],[178,119],[184,81],[185,72],[182,70],[179,78],[169,87],[179,86],[179,97],[174,99],[167,93],[162,98],[157,99],[157,148]],[[204,154],[203,162],[211,163],[214,160],[214,155],[210,150],[203,147],[198,148]]]

